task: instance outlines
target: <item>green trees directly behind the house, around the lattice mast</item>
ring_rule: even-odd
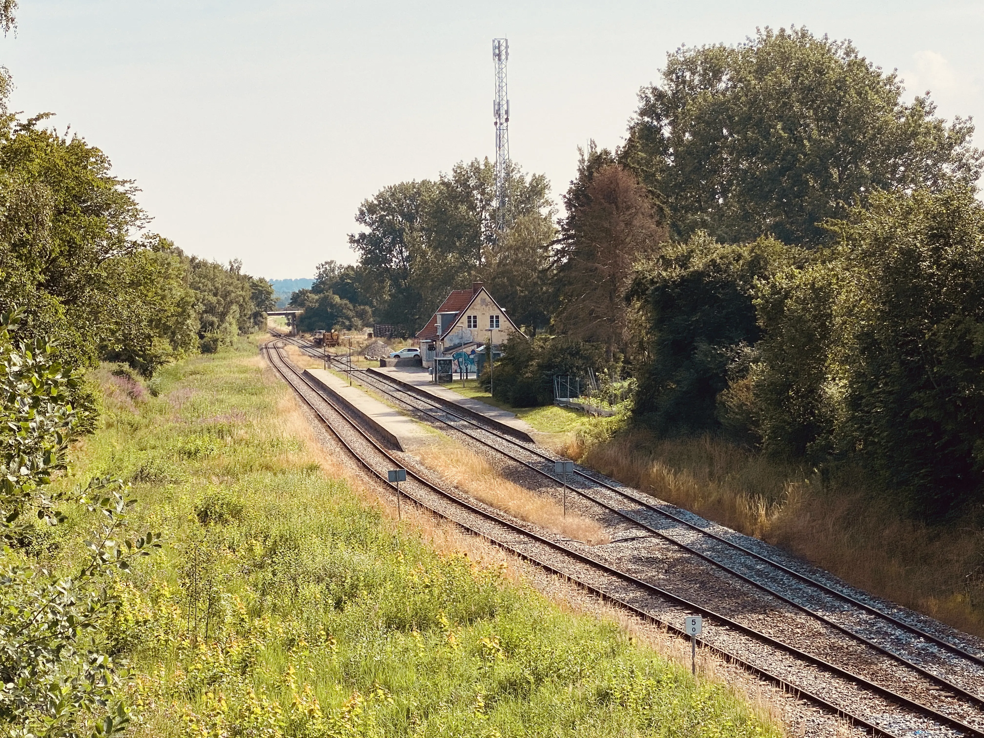
[[[512,238],[495,230],[495,167],[488,159],[460,162],[437,181],[392,185],[362,203],[355,220],[363,230],[349,243],[380,322],[413,333],[456,286],[475,279],[505,283],[518,263],[545,267],[554,215],[547,181],[517,167],[509,188],[511,222],[521,229]],[[531,243],[539,238],[545,240]],[[549,295],[538,289],[535,275],[523,273],[503,295],[511,316],[542,320],[548,314]],[[530,305],[531,299],[544,302]]]

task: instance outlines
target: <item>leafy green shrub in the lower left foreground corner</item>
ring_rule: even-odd
[[[117,735],[129,715],[120,699],[125,671],[104,641],[112,584],[159,545],[159,534],[127,537],[135,501],[119,480],[51,492],[83,414],[69,400],[78,380],[53,361],[50,342],[13,342],[19,319],[0,316],[0,726],[7,735],[43,738]],[[87,555],[68,571],[34,558],[49,536],[30,522],[64,523],[62,506],[84,507],[97,520]]]

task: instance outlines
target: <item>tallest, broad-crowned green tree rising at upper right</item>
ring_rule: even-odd
[[[771,234],[830,241],[821,222],[875,190],[973,182],[973,126],[935,117],[848,41],[806,29],[759,31],[738,46],[683,47],[640,92],[621,159],[664,209],[674,238]]]

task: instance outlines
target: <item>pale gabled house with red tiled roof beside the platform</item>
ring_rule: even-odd
[[[512,333],[521,331],[482,283],[476,281],[471,289],[456,289],[449,294],[416,338],[423,364],[429,367],[435,357],[450,356],[456,351],[469,353],[489,338],[498,347]]]

